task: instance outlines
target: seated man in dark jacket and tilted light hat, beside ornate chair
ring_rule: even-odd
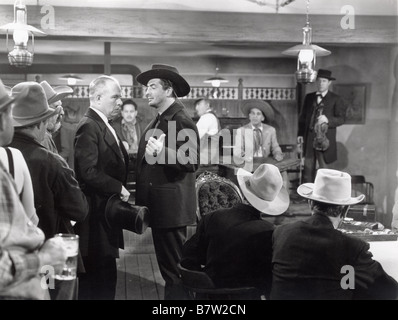
[[[253,174],[239,169],[238,182],[248,202],[204,215],[184,245],[181,265],[205,271],[217,287],[253,286],[268,297],[274,225],[262,216],[285,212],[289,195],[272,164]]]

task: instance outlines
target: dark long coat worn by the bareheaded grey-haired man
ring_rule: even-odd
[[[120,152],[122,151],[122,152]],[[118,257],[123,248],[122,230],[110,230],[104,225],[108,198],[119,194],[127,179],[128,155],[99,115],[88,109],[80,120],[75,137],[75,171],[90,212],[88,219],[76,224],[83,256]]]

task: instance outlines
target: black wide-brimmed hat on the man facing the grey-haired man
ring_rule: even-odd
[[[170,80],[177,97],[184,97],[191,91],[188,82],[180,75],[177,68],[167,64],[153,64],[151,70],[137,76],[137,81],[146,86],[149,80],[155,78]]]

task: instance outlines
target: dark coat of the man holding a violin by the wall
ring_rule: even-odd
[[[316,101],[316,92],[307,94],[299,117],[298,135],[304,138],[304,153],[309,150],[306,147],[307,145],[311,146],[310,150],[312,150],[314,133],[310,132],[310,125],[312,114],[317,105]],[[345,122],[347,106],[340,96],[331,91],[328,91],[326,96],[322,99],[322,103],[324,105],[323,114],[329,120],[326,137],[329,139],[330,143],[329,148],[324,152],[324,158],[326,163],[332,163],[337,160],[336,127],[341,126]]]

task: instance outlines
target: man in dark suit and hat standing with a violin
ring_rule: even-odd
[[[304,143],[303,181],[313,182],[316,168],[327,168],[337,160],[336,127],[345,122],[347,106],[341,97],[329,90],[332,73],[329,70],[319,69],[316,84],[318,91],[305,96],[301,109],[298,127],[298,143]],[[316,126],[323,123],[323,131],[316,132]],[[323,129],[324,128],[324,129]],[[326,134],[325,134],[326,133]],[[314,139],[320,135],[328,140],[329,146],[314,146]],[[326,138],[326,139],[325,139]]]

